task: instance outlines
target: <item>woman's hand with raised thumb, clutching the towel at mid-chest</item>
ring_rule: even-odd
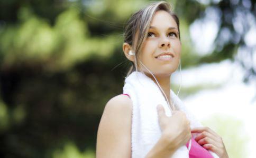
[[[172,116],[166,116],[162,105],[157,106],[159,125],[162,135],[168,140],[170,149],[177,150],[191,138],[190,121],[181,111],[173,111]]]

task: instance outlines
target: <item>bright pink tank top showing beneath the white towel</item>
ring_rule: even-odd
[[[124,94],[124,95],[129,96],[128,94]],[[189,145],[189,141],[186,143],[187,147],[188,145]],[[189,151],[189,158],[213,158],[213,156],[206,149],[204,149],[203,146],[198,144],[195,141],[194,137],[191,137],[191,147]]]

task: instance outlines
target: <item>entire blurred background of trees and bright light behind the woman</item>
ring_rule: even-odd
[[[95,157],[131,63],[124,26],[146,0],[0,1],[0,157]],[[256,157],[255,0],[179,0],[171,88],[230,157]]]

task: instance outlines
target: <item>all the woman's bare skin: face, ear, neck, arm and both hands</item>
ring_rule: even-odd
[[[170,76],[178,68],[181,53],[178,27],[171,15],[165,11],[156,12],[150,26],[154,28],[150,28],[139,57],[156,76],[170,100]],[[176,29],[170,30],[169,27]],[[124,43],[125,56],[134,62],[135,56],[129,55],[130,50],[132,46]],[[169,51],[175,55],[172,61],[159,61],[155,58],[160,53]],[[139,71],[143,71],[154,81],[143,67]],[[168,117],[162,106],[158,106],[157,111],[162,135],[146,157],[171,157],[180,146],[189,141],[191,132],[199,133],[196,141],[200,145],[221,158],[228,157],[222,139],[208,127],[191,130],[184,112],[172,111],[172,116]],[[99,123],[96,157],[131,157],[131,120],[132,101],[128,96],[117,95],[108,101]]]

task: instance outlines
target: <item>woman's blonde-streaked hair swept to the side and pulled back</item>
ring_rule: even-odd
[[[142,49],[143,43],[147,38],[147,33],[150,27],[150,23],[154,14],[157,11],[166,11],[168,12],[172,18],[175,20],[178,26],[179,31],[179,18],[178,16],[172,12],[172,6],[168,2],[153,2],[147,7],[140,9],[138,12],[134,13],[129,21],[127,22],[124,30],[124,42],[128,43],[135,50],[135,58],[136,61],[139,61],[139,54]],[[135,39],[135,34],[138,32],[138,37]],[[180,33],[179,33],[180,39]],[[136,41],[136,43],[135,43]],[[135,71],[135,67],[140,68],[140,65],[136,63],[132,64],[126,76],[129,76],[133,71]]]

